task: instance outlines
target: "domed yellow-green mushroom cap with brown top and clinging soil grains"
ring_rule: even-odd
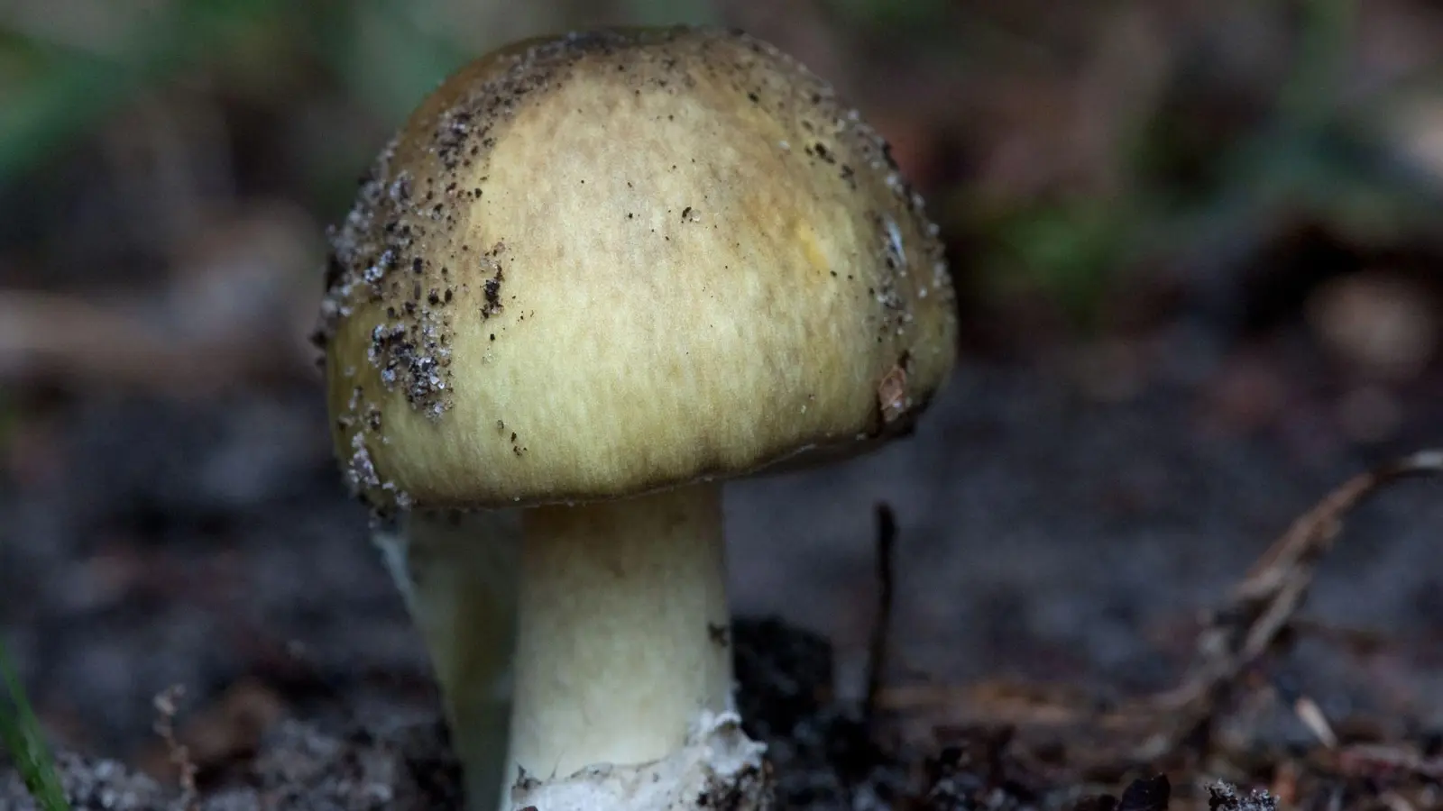
[[[530,40],[447,79],[335,234],[335,439],[377,505],[633,495],[905,427],[952,289],[886,144],[772,46]]]

